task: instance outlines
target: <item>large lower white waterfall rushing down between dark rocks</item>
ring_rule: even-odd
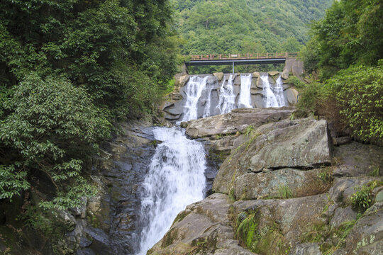
[[[143,182],[141,222],[145,222],[139,254],[156,244],[187,205],[204,198],[204,146],[177,128],[155,128],[157,146]]]

